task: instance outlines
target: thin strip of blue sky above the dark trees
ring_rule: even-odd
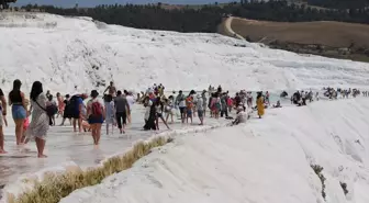
[[[231,0],[18,0],[14,5],[25,5],[29,3],[37,4],[54,4],[57,7],[75,7],[76,3],[79,7],[94,7],[98,4],[125,4],[125,3],[171,3],[171,4],[208,4],[214,2],[230,2]]]

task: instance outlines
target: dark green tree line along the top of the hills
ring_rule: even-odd
[[[203,5],[197,9],[191,9],[191,7],[165,9],[160,3],[146,5],[98,5],[87,9],[65,9],[53,5],[29,4],[23,9],[41,9],[48,13],[60,15],[91,16],[94,20],[109,24],[119,24],[136,29],[178,32],[216,32],[222,19],[230,14],[254,20],[279,22],[340,21],[369,24],[369,10],[366,7],[316,9],[308,5],[288,3],[287,1],[273,0],[268,2],[244,2],[242,4],[233,2],[222,7]]]

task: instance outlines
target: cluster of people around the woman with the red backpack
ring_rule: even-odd
[[[102,100],[99,98],[99,92],[97,90],[91,91],[91,100],[85,104],[85,100],[88,98],[87,94],[75,94],[70,97],[66,95],[65,100],[58,98],[58,109],[59,115],[63,115],[63,122],[60,125],[65,124],[68,119],[74,125],[74,132],[81,133],[91,132],[96,145],[99,145],[101,137],[101,125],[105,122],[107,134],[110,134],[110,128],[113,133],[114,126],[118,125],[120,133],[125,133],[124,128],[131,122],[132,105],[135,103],[135,99],[132,92],[124,90],[116,90],[113,82],[103,92]],[[72,122],[71,122],[72,121]]]

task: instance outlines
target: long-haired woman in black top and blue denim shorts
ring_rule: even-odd
[[[22,144],[23,123],[26,117],[24,93],[21,91],[21,80],[14,80],[13,90],[9,93],[9,105],[12,105],[12,115],[15,123],[16,145]]]

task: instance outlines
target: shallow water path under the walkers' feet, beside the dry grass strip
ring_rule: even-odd
[[[14,124],[8,116],[9,126],[4,127],[7,155],[0,156],[0,185],[3,188],[8,183],[19,180],[20,177],[32,176],[38,171],[58,170],[60,166],[70,161],[79,167],[87,168],[99,165],[111,155],[124,153],[139,139],[147,139],[155,134],[161,133],[186,133],[195,128],[215,127],[230,123],[230,120],[220,117],[219,120],[205,117],[204,126],[199,126],[199,119],[193,117],[193,124],[182,124],[177,115],[174,116],[174,124],[169,124],[170,129],[159,123],[160,131],[142,131],[144,125],[144,108],[136,104],[133,109],[132,123],[127,125],[126,133],[120,134],[115,127],[114,133],[107,135],[105,125],[102,126],[102,135],[99,148],[94,148],[91,133],[74,133],[69,122],[65,126],[51,126],[46,142],[46,159],[38,159],[35,143],[31,142],[25,146],[15,146]],[[235,112],[234,112],[235,113]],[[170,117],[168,120],[170,123]],[[57,119],[57,124],[62,119]],[[111,129],[110,129],[111,131]],[[0,188],[0,190],[1,190]]]

